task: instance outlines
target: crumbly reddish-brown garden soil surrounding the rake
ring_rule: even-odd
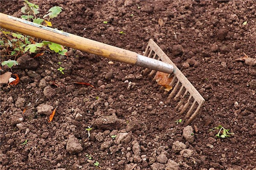
[[[185,128],[183,122],[171,123],[182,119],[175,102],[141,76],[143,68],[71,48],[67,57],[45,53],[29,59],[32,67],[12,68],[20,77],[17,85],[1,86],[0,169],[256,167],[256,66],[235,61],[243,53],[256,57],[256,1],[32,2],[39,5],[41,18],[52,6],[61,6],[53,27],[81,37],[139,54],[152,38],[206,102]],[[22,1],[1,1],[1,12],[15,17],[21,16],[21,7]],[[128,82],[134,83],[129,89]],[[209,129],[218,125],[234,135],[217,138],[218,132]]]

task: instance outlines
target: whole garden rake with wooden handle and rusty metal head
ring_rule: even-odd
[[[167,73],[168,77],[172,78],[172,82],[169,85],[174,86],[174,88],[170,94],[168,94],[169,92],[167,91],[165,94],[169,95],[168,99],[172,99],[173,97],[174,101],[180,99],[176,109],[180,111],[179,117],[187,111],[183,118],[185,119],[185,125],[190,124],[192,120],[195,119],[201,105],[204,103],[204,98],[153,40],[149,40],[143,56],[132,51],[79,37],[2,13],[0,13],[0,27],[67,47],[76,48],[91,54],[114,59],[119,62],[146,68],[143,74],[149,77],[156,75],[157,71]]]

